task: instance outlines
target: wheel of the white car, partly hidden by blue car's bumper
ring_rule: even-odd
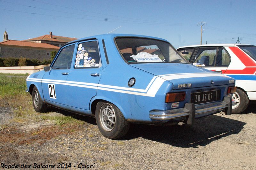
[[[249,104],[249,98],[247,94],[241,89],[236,89],[236,92],[233,94],[232,99],[237,101],[236,105],[232,107],[232,114],[244,112]]]

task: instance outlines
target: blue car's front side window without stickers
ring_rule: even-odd
[[[52,69],[70,69],[75,45],[64,47],[52,65]]]

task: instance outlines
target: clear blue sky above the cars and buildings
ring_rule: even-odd
[[[255,0],[0,0],[0,34],[83,38],[122,26],[112,33],[156,36],[178,47],[200,43],[201,21],[203,43],[255,35],[255,9]]]

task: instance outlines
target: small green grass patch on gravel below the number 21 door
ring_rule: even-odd
[[[66,123],[77,123],[77,124],[83,124],[82,121],[76,120],[72,118],[71,116],[49,116],[49,115],[43,115],[41,116],[42,120],[54,120],[56,125],[64,125]]]

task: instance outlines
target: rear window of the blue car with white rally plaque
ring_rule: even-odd
[[[116,38],[116,45],[124,60],[131,64],[147,62],[189,63],[165,41],[118,37]]]

